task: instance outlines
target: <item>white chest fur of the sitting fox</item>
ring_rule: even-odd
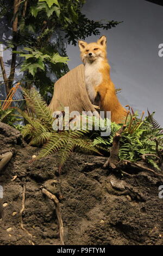
[[[102,82],[102,74],[99,72],[101,68],[101,59],[95,62],[85,64],[85,84],[87,94],[93,103],[96,97],[95,88]]]

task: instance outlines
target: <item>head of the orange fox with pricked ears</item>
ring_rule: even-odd
[[[106,36],[101,36],[97,42],[91,42],[87,44],[87,42],[79,40],[78,41],[80,48],[80,56],[82,58],[83,63],[86,62],[95,62],[99,57],[106,58]]]

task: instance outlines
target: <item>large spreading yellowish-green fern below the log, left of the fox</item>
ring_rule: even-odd
[[[34,88],[31,90],[23,89],[23,93],[30,112],[27,113],[17,109],[28,122],[21,132],[23,137],[30,141],[29,145],[43,145],[37,159],[57,152],[61,168],[76,147],[99,153],[90,139],[84,139],[85,134],[89,131],[53,130],[54,118],[52,117],[52,111],[47,107],[41,95]]]

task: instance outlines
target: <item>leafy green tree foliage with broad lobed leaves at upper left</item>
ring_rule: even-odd
[[[81,11],[84,0],[28,0],[24,14],[25,3],[21,1],[17,13],[17,36],[8,40],[7,48],[13,50],[17,46],[15,53],[24,72],[22,84],[38,88],[49,103],[54,82],[69,71],[66,44],[77,45],[78,39],[99,35],[101,29],[120,22],[87,19]],[[13,1],[0,0],[0,8],[11,29]]]

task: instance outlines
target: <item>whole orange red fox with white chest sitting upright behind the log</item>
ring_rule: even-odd
[[[92,104],[101,111],[111,111],[111,121],[122,123],[127,111],[118,101],[114,83],[110,78],[110,66],[106,58],[106,36],[87,44],[79,40],[80,56],[85,66],[85,83]]]

